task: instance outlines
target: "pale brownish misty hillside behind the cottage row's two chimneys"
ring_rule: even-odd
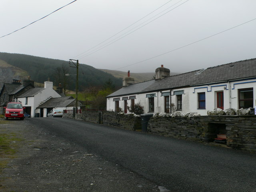
[[[115,70],[108,70],[108,69],[100,69],[104,72],[107,72],[109,74],[112,74],[116,78],[123,78],[127,77],[127,72],[123,71],[115,71]],[[176,75],[178,73],[170,73],[170,75]],[[144,82],[148,80],[152,80],[155,76],[155,73],[130,73],[130,77],[134,78],[135,83]]]

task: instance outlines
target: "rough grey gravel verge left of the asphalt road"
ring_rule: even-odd
[[[153,182],[81,146],[32,126],[28,119],[0,124],[0,134],[15,132],[16,158],[0,173],[2,192],[156,192]],[[161,190],[162,191],[162,190]]]

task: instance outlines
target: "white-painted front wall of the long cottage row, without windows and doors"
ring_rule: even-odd
[[[224,110],[228,108],[238,109],[238,89],[243,88],[253,88],[254,106],[256,106],[256,80],[241,80],[236,82],[224,82],[220,84],[175,89],[171,92],[170,104],[174,103],[177,107],[177,97],[174,95],[174,91],[183,90],[184,94],[182,94],[182,110],[180,110],[180,112],[198,112],[201,115],[207,115],[208,110],[214,110],[214,108],[217,107],[216,92],[223,91]],[[170,92],[170,90],[165,90],[162,92]],[[198,109],[198,93],[200,92],[205,92],[206,109]],[[156,97],[154,97],[154,111],[164,112],[164,96],[161,96],[161,92],[150,92],[144,94],[136,94],[135,103],[140,102],[140,104],[144,106],[144,113],[148,113],[148,98],[146,98],[146,94],[156,94]],[[121,96],[119,101],[119,106],[124,109],[124,101],[122,101],[122,97],[127,96]],[[130,100],[128,100],[128,106],[130,106]],[[107,98],[107,110],[115,110],[115,102],[113,101],[113,98]]]

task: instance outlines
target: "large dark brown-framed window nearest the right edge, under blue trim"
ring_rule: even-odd
[[[239,109],[253,107],[253,88],[238,90]]]

